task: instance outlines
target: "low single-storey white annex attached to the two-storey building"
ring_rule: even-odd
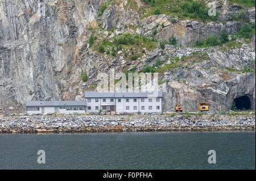
[[[85,101],[28,101],[27,113],[83,113]]]

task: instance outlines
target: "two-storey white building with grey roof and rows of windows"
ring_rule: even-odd
[[[163,92],[85,92],[86,111],[160,113]]]

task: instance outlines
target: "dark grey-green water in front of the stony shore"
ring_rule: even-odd
[[[0,169],[255,169],[255,132],[0,134]]]

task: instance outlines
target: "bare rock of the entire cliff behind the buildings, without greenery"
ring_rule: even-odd
[[[93,31],[98,33],[96,41],[123,32],[145,37],[156,33],[159,40],[174,35],[178,45],[193,45],[196,40],[220,36],[224,28],[230,34],[237,33],[244,22],[232,19],[232,13],[239,11],[236,6],[218,1],[219,20],[203,23],[170,15],[142,18],[148,7],[139,0],[132,1],[135,3],[113,0],[98,18],[105,2],[1,1],[0,98],[22,104],[27,100],[82,99],[84,90],[92,90],[99,81],[96,79],[99,72],[108,72],[110,68],[125,71],[133,66],[142,70],[146,65],[154,65],[156,58],[167,60],[162,65],[164,68],[172,64],[170,61],[176,56],[184,56],[187,58],[179,66],[160,73],[160,86],[166,91],[165,111],[173,110],[179,100],[185,110],[197,110],[198,103],[205,99],[214,111],[229,110],[234,98],[243,95],[250,98],[251,108],[255,110],[255,71],[242,71],[244,65],[255,66],[251,64],[251,60],[255,60],[255,36],[249,43],[238,42],[238,47],[226,49],[170,45],[161,49],[155,43],[155,47],[146,49],[146,53],[134,61],[127,59],[122,50],[113,57],[98,53],[88,45]],[[255,22],[255,8],[244,10],[250,21]],[[115,31],[108,32],[111,28]],[[82,71],[88,74],[87,82],[81,81]],[[2,101],[0,107],[10,105]]]

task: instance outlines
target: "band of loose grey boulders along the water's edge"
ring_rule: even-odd
[[[0,133],[255,131],[255,115],[0,117]]]

